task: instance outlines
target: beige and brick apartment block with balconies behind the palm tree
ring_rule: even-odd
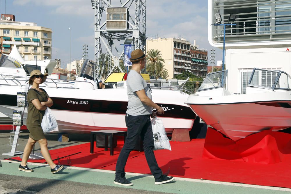
[[[196,45],[196,44],[195,44]],[[168,78],[182,72],[193,73],[205,77],[207,74],[207,50],[198,49],[184,38],[157,38],[146,41],[147,51],[157,49],[161,51],[168,70]]]

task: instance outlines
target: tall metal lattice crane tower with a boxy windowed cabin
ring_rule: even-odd
[[[99,79],[102,76],[106,78],[115,68],[123,72],[119,61],[124,49],[122,52],[118,51],[120,43],[123,42],[117,44],[117,41],[132,38],[134,49],[146,50],[146,0],[125,0],[124,3],[121,0],[114,1],[120,6],[112,6],[111,0],[91,0],[95,10],[95,63],[100,67],[102,63]],[[113,52],[112,48],[116,51]]]

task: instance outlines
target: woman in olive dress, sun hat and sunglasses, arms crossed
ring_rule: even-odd
[[[28,101],[28,114],[26,120],[26,126],[29,130],[29,138],[24,148],[22,161],[18,170],[25,172],[32,172],[33,170],[26,165],[26,162],[31,154],[33,145],[38,141],[40,144],[40,150],[45,161],[51,167],[51,172],[56,173],[60,171],[64,166],[56,165],[49,154],[47,148],[47,139],[41,128],[42,117],[45,114],[47,107],[53,105],[52,99],[49,97],[44,89],[39,88],[39,85],[47,79],[47,76],[43,75],[40,70],[33,70],[30,73],[29,84],[32,85],[31,89],[27,92]]]

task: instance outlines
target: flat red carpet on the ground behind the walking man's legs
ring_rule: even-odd
[[[175,177],[291,188],[291,154],[286,154],[279,163],[268,165],[237,160],[205,159],[202,158],[204,142],[204,139],[193,139],[190,142],[171,142],[172,151],[155,151],[159,166],[163,172],[167,172],[170,168],[169,175]],[[61,159],[61,164],[115,170],[122,145],[123,141],[119,140],[113,156],[110,156],[109,150],[104,151],[104,148],[94,148],[94,154],[90,154],[90,143],[54,149],[50,153],[52,158],[56,159],[57,156],[62,157],[81,152],[70,156],[71,164],[68,163],[69,157]],[[19,160],[19,157],[14,159]],[[144,152],[132,151],[125,171],[150,174]]]

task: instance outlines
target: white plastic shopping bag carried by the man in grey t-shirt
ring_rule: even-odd
[[[152,135],[154,138],[155,150],[157,149],[172,150],[162,120],[156,117],[156,118],[153,118],[151,122],[152,122]]]

